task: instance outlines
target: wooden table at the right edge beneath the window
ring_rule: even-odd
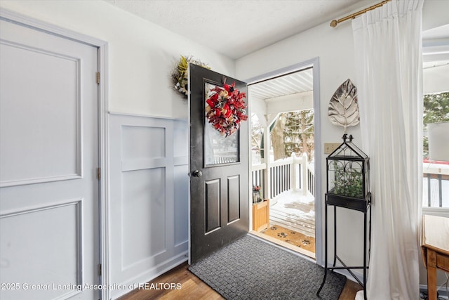
[[[449,272],[449,218],[422,216],[421,250],[429,300],[436,300],[436,269]]]

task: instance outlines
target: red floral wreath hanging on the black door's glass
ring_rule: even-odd
[[[246,93],[235,88],[236,83],[224,84],[224,88],[215,86],[206,100],[206,117],[213,128],[222,136],[230,136],[240,128],[242,121],[246,121]]]

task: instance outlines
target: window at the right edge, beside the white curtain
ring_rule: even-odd
[[[435,31],[429,33],[429,37],[435,37]],[[449,158],[445,157],[449,155],[449,142],[440,143],[449,136],[443,129],[449,126],[449,40],[443,44],[441,41],[423,41],[422,207],[449,209]],[[443,133],[443,138],[434,137],[437,131]]]

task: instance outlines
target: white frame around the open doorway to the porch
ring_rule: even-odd
[[[311,58],[302,63],[282,67],[271,72],[260,74],[249,79],[245,79],[248,86],[256,84],[257,82],[269,80],[274,77],[279,77],[284,74],[298,72],[307,67],[313,68],[313,82],[314,82],[314,127],[315,127],[315,261],[320,266],[323,266],[323,225],[322,225],[322,211],[323,203],[321,201],[321,118],[320,118],[320,80],[319,80],[319,58]],[[250,97],[250,95],[248,95]],[[250,112],[248,112],[250,115]],[[250,166],[248,167],[250,168]],[[248,192],[249,193],[249,192]],[[251,217],[251,214],[250,214]],[[251,223],[251,221],[250,221]]]

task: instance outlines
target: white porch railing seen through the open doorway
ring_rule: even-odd
[[[296,157],[295,153],[276,162],[253,165],[253,185],[259,185],[262,197],[274,198],[286,190],[302,190],[304,195],[315,195],[315,171],[309,164],[307,154]]]

